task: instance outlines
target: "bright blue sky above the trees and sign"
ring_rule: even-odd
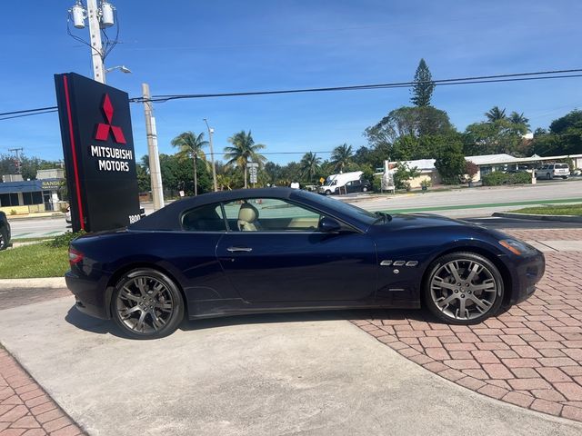
[[[73,0],[3,5],[0,112],[55,104],[53,74],[91,75],[89,49],[66,35]],[[207,94],[411,80],[421,57],[433,78],[582,66],[578,0],[115,0],[120,44],[107,75],[131,96]],[[87,37],[86,30],[75,35]],[[161,153],[186,130],[215,127],[215,144],[251,129],[266,152],[365,145],[362,132],[409,104],[407,89],[183,100],[156,104]],[[524,112],[532,129],[582,107],[582,78],[437,87],[433,105],[458,129],[493,105]],[[146,154],[143,107],[132,104],[135,153]],[[56,114],[0,121],[0,154],[62,158]],[[321,154],[328,157],[329,154]],[[269,154],[285,163],[301,154]]]

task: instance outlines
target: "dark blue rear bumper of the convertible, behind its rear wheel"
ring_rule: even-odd
[[[111,318],[109,296],[106,292],[107,277],[93,281],[69,270],[65,273],[65,282],[69,291],[75,295],[75,307],[80,312],[102,320]]]

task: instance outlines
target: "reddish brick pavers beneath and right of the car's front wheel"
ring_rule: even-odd
[[[524,240],[582,240],[582,230],[507,231]],[[546,253],[537,292],[497,318],[448,326],[425,312],[354,320],[426,370],[502,401],[582,421],[582,253]]]

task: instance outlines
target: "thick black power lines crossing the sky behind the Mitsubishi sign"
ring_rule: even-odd
[[[564,79],[573,77],[582,77],[582,68],[575,68],[569,70],[549,70],[538,71],[533,73],[514,73],[514,74],[494,74],[494,75],[478,75],[470,77],[457,77],[451,79],[438,79],[426,83],[433,83],[437,86],[450,84],[488,84],[488,83],[503,83],[503,82],[517,82],[530,81],[542,79]],[[553,75],[549,75],[553,74]],[[272,91],[245,91],[234,93],[217,93],[217,94],[162,94],[153,95],[150,102],[165,103],[170,100],[181,100],[189,98],[214,98],[214,97],[236,97],[236,96],[250,96],[250,95],[272,95],[272,94],[300,94],[300,93],[321,93],[321,92],[336,92],[336,91],[358,91],[370,89],[390,89],[390,88],[407,88],[415,84],[423,84],[424,82],[393,82],[387,84],[357,84],[351,86],[331,86],[319,88],[299,88],[299,89],[283,89]],[[144,103],[146,100],[143,97],[130,98],[131,103]],[[0,113],[0,121],[18,118],[19,116],[5,116],[18,114],[21,116],[33,114],[48,114],[55,112],[57,106],[39,107],[35,109],[25,109],[21,111]]]

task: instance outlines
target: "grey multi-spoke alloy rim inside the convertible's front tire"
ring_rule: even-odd
[[[435,306],[452,320],[468,321],[485,315],[494,306],[498,290],[493,272],[472,259],[444,263],[430,281]]]

